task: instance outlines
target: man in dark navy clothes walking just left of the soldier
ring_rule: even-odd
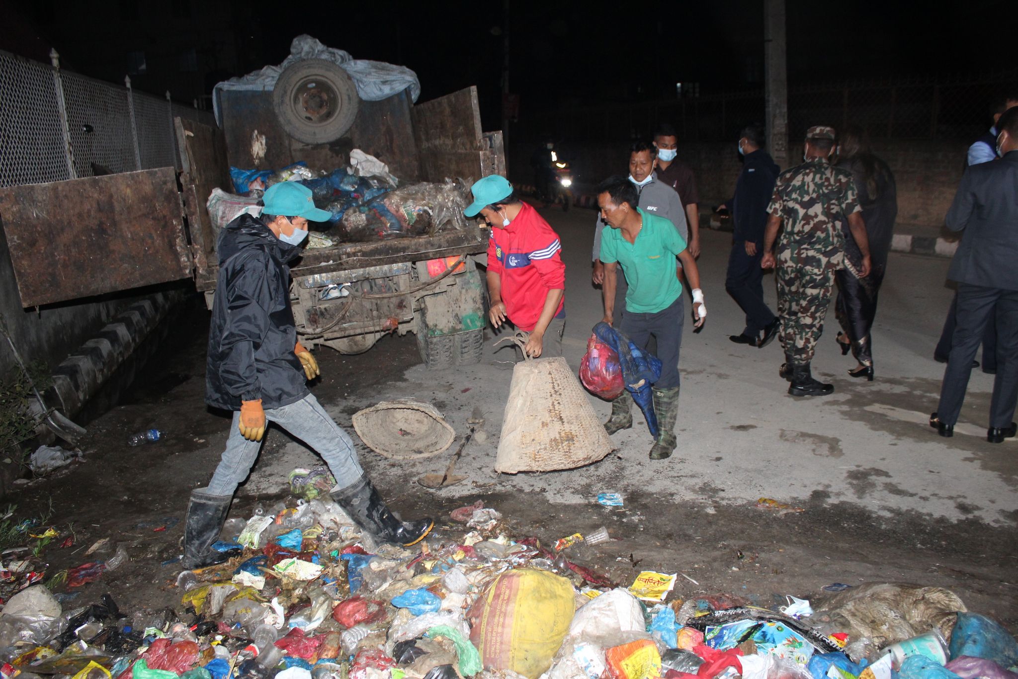
[[[739,136],[739,155],[743,157],[742,172],[735,182],[735,196],[728,208],[735,222],[732,251],[728,257],[725,290],[745,312],[746,327],[729,339],[736,344],[765,347],[778,334],[778,317],[764,301],[764,229],[767,207],[774,193],[779,168],[764,151],[764,129],[747,125]],[[719,209],[725,208],[721,206]],[[764,336],[760,337],[760,331]]]

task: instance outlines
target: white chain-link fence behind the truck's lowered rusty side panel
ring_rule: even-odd
[[[180,169],[173,118],[208,111],[0,52],[0,186]]]

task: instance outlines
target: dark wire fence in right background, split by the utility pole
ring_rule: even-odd
[[[793,86],[788,130],[794,139],[810,125],[853,123],[873,138],[974,138],[989,127],[995,96],[1015,88],[1018,70],[973,79]],[[521,140],[552,135],[586,143],[636,138],[669,123],[684,142],[719,142],[734,139],[743,125],[764,119],[764,91],[755,90],[524,112],[511,129]]]

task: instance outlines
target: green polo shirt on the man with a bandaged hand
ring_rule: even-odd
[[[675,275],[675,257],[686,248],[686,241],[675,225],[664,217],[648,215],[640,209],[643,227],[636,240],[629,243],[622,229],[607,228],[601,236],[601,261],[618,262],[626,275],[626,310],[633,314],[663,312],[682,294],[682,283]]]

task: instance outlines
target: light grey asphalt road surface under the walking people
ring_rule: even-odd
[[[564,346],[569,363],[578,369],[590,328],[602,316],[600,290],[589,278],[595,216],[584,210],[543,214],[563,243]],[[728,339],[743,327],[740,309],[724,289],[729,247],[728,234],[704,232],[699,267],[709,316],[698,334],[687,323],[683,337],[676,454],[665,461],[648,460],[653,441],[637,417],[636,427],[614,437],[624,460],[621,475],[616,464],[606,463],[554,474],[503,476],[500,485],[528,492],[548,489],[555,503],[587,502],[591,493],[607,488],[623,493],[641,489],[670,501],[742,503],[767,497],[795,503],[812,497],[875,512],[977,517],[992,525],[1015,521],[1018,443],[991,445],[984,440],[993,377],[973,372],[953,439],[936,436],[926,425],[943,376],[932,349],[953,294],[945,285],[948,260],[891,256],[872,333],[872,383],[846,375],[855,361],[840,354],[832,309],[813,366],[819,378],[834,383],[835,393],[797,399],[787,395],[787,383],[777,374],[783,361],[779,342],[756,349]],[[770,275],[765,279],[772,307],[773,280]],[[491,479],[509,391],[511,365],[498,361],[512,360],[511,351],[495,353],[492,348],[501,336],[489,341],[489,353],[478,365],[446,373],[416,365],[406,371],[405,382],[374,395],[377,400],[412,395],[439,402],[461,433],[472,409],[480,407],[490,437],[486,444],[471,444],[459,465],[472,480]],[[607,416],[610,405],[589,398]],[[422,471],[440,471],[444,461],[421,465]]]

